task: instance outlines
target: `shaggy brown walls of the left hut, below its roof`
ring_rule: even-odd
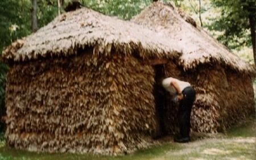
[[[7,74],[6,140],[15,148],[117,154],[150,144],[154,70],[132,57],[48,58]]]

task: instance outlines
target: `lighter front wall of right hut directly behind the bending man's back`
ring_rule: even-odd
[[[220,128],[222,99],[220,92],[226,92],[226,75],[218,66],[199,66],[196,74],[188,73],[186,78],[196,90],[196,100],[191,113],[191,126],[196,132],[216,133]],[[192,76],[191,76],[192,75]],[[226,103],[230,104],[230,101]]]

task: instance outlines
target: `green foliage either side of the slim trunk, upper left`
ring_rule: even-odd
[[[0,1],[0,52],[12,41],[31,33],[30,0]],[[38,1],[38,26],[43,27],[57,15],[57,1]]]

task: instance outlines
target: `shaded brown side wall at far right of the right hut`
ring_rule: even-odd
[[[228,89],[222,94],[221,128],[243,124],[248,117],[255,117],[253,79],[226,70]],[[228,99],[228,101],[226,101]]]

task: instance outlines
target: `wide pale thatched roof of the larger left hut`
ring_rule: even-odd
[[[2,57],[24,61],[47,55],[67,56],[86,47],[93,47],[94,54],[108,55],[114,49],[123,54],[138,53],[142,58],[170,58],[180,53],[180,47],[162,33],[84,7],[57,16],[32,35],[15,41]]]

